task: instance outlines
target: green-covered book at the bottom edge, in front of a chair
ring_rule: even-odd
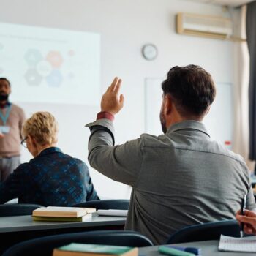
[[[102,244],[68,244],[53,250],[53,256],[138,256],[137,247]]]

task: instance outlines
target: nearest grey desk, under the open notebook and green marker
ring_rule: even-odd
[[[252,252],[219,252],[219,240],[200,241],[192,243],[172,244],[175,246],[198,247],[202,250],[203,256],[252,256]],[[139,249],[140,256],[163,256],[158,252],[158,246],[144,247]]]

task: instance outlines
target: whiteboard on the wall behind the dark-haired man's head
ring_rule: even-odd
[[[152,135],[162,134],[159,113],[162,105],[163,78],[146,78],[145,80],[145,130]],[[217,83],[217,96],[211,105],[208,115],[204,118],[212,140],[222,145],[227,142],[232,148],[233,136],[233,89],[230,83]]]

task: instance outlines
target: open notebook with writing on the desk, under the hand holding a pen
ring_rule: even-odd
[[[219,251],[226,252],[256,252],[256,236],[235,238],[220,236]]]

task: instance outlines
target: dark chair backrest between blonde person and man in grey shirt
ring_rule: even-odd
[[[84,203],[75,204],[73,207],[92,207],[96,209],[117,209],[128,210],[129,200],[125,199],[111,199],[111,200],[93,200]]]

